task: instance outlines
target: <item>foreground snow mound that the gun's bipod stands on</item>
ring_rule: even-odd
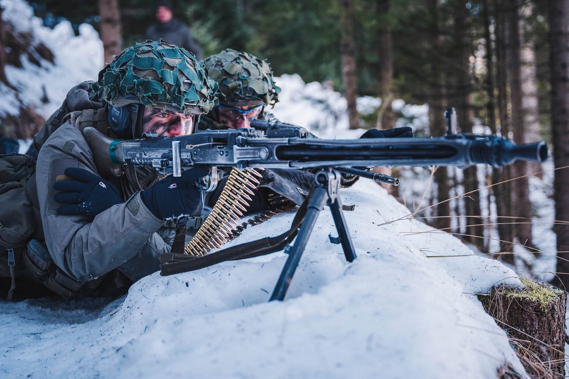
[[[519,284],[497,261],[409,214],[368,180],[343,190],[357,252],[348,263],[327,208],[283,302],[267,302],[286,255],[218,264],[134,284],[100,312],[76,301],[1,301],[9,377],[489,378],[523,372],[504,331],[471,293]],[[232,244],[277,235],[292,214]],[[420,234],[417,234],[420,233]],[[455,256],[430,258],[427,256]],[[73,306],[75,305],[75,306]],[[85,310],[86,308],[86,310]],[[89,316],[90,315],[90,316]]]

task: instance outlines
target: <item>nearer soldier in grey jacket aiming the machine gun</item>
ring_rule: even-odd
[[[191,134],[216,105],[216,90],[193,55],[159,40],[125,49],[97,82],[70,91],[32,147],[39,149],[35,184],[44,245],[34,241],[25,249],[28,275],[71,298],[120,293],[158,270],[158,256],[171,251],[175,235],[168,222],[200,211],[193,182],[209,168],[174,178],[126,166],[110,176],[94,164],[82,131],[94,126],[120,139]]]

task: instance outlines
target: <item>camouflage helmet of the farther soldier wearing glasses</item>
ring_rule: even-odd
[[[281,89],[275,85],[273,70],[257,57],[233,49],[205,59],[209,76],[217,82],[216,95],[224,105],[275,105]]]

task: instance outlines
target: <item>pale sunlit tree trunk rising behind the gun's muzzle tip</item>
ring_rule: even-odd
[[[539,134],[538,94],[537,94],[537,65],[535,63],[535,38],[530,30],[529,20],[533,17],[533,3],[525,2],[522,5],[523,22],[520,25],[522,32],[521,47],[521,78],[523,91],[523,125],[525,126],[526,143],[541,140]],[[530,173],[541,172],[541,163],[531,162],[528,164]]]

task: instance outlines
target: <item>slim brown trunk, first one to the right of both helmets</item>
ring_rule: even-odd
[[[353,36],[353,0],[340,0],[342,40],[340,52],[342,54],[342,78],[344,91],[348,102],[348,118],[350,129],[360,127],[360,116],[357,113],[357,77],[356,77],[356,49]]]

